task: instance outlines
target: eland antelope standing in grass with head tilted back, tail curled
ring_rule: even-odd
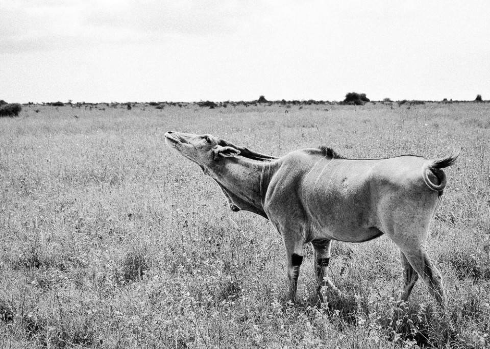
[[[275,157],[212,135],[168,131],[165,141],[211,176],[232,211],[250,211],[273,223],[286,249],[289,300],[296,300],[306,243],[313,246],[323,301],[322,287],[341,294],[328,277],[332,240],[364,242],[385,234],[400,248],[400,300],[407,301],[420,276],[445,308],[442,277],[426,239],[447,183],[442,168],[453,165],[459,153],[432,160],[347,159],[321,146]]]

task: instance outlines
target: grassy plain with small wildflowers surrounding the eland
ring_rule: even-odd
[[[165,146],[168,130],[272,155],[462,148],[428,241],[448,315],[422,281],[399,310],[399,253],[386,237],[333,244],[332,281],[348,301],[318,304],[310,246],[298,303],[280,301],[280,236],[230,211]],[[0,118],[0,348],[488,347],[489,172],[490,104],[24,106]]]

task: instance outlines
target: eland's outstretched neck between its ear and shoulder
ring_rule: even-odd
[[[268,218],[263,203],[275,168],[274,162],[223,159],[211,171],[211,176],[223,189],[230,205]]]

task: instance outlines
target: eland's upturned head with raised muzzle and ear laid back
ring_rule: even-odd
[[[165,133],[165,142],[189,160],[199,164],[205,172],[223,158],[240,154],[237,147],[211,135],[168,131]]]

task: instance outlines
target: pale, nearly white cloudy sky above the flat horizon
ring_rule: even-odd
[[[490,1],[0,0],[7,102],[490,99]]]

